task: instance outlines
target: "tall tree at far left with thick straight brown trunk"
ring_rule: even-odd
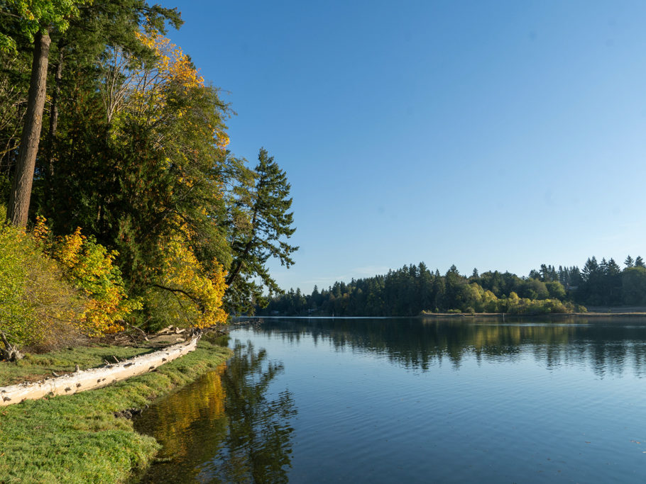
[[[24,227],[41,144],[50,45],[54,47],[57,59],[55,87],[49,103],[47,149],[44,156],[38,158],[48,165],[51,173],[65,57],[71,55],[77,60],[82,59],[84,73],[96,71],[97,57],[102,55],[102,47],[106,43],[121,45],[125,41],[132,44],[132,33],[142,24],[147,30],[164,30],[166,20],[175,27],[181,21],[176,9],[148,6],[144,0],[5,0],[0,5],[3,18],[0,50],[18,54],[18,47],[21,47],[20,50],[30,52],[33,58],[21,142],[18,146],[13,145],[13,150],[18,149],[18,159],[6,214],[10,223]],[[66,35],[68,30],[75,30],[75,34]],[[128,35],[124,35],[124,32],[130,35],[130,40],[126,39]],[[24,40],[32,47],[24,45]]]

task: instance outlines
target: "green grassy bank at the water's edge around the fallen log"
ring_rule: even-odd
[[[20,366],[0,363],[0,385],[36,380],[51,371],[99,366],[103,359],[150,349],[89,347],[30,356]],[[0,409],[0,483],[118,483],[150,463],[159,449],[114,412],[140,408],[218,366],[229,349],[206,341],[153,373],[100,390]]]

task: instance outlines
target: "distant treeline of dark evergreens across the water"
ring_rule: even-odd
[[[570,313],[585,305],[646,305],[642,257],[625,259],[623,269],[596,257],[577,266],[542,264],[528,276],[488,271],[461,275],[451,266],[442,275],[424,262],[388,274],[335,282],[310,295],[300,288],[276,296],[261,315],[412,316],[427,313]]]

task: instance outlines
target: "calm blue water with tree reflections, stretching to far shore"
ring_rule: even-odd
[[[646,319],[265,319],[144,412],[144,482],[642,483]]]

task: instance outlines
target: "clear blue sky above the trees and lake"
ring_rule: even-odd
[[[283,288],[646,257],[646,2],[162,4],[231,150],[288,173]]]

